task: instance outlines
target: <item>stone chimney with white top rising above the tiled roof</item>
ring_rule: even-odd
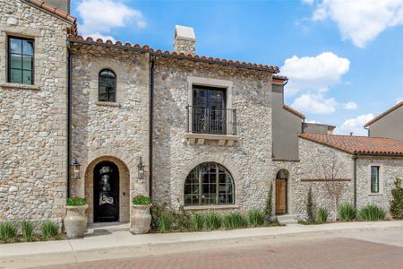
[[[174,51],[185,55],[195,55],[196,36],[192,27],[182,25],[175,26]]]

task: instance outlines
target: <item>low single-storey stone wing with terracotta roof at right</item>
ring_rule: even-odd
[[[313,188],[317,206],[331,210],[326,181],[345,182],[340,204],[362,208],[377,204],[389,210],[391,189],[396,178],[403,178],[403,143],[382,137],[336,134],[300,134],[300,175],[294,193],[295,213],[304,215],[304,194]],[[331,177],[331,167],[339,169]]]

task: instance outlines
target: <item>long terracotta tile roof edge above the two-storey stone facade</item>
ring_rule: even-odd
[[[107,45],[112,45],[116,47],[126,47],[126,48],[137,48],[141,49],[143,51],[150,52],[154,55],[157,56],[176,56],[179,58],[184,58],[184,59],[190,59],[190,60],[195,60],[195,61],[208,61],[212,63],[217,63],[217,64],[222,64],[222,65],[236,65],[239,67],[245,67],[245,68],[256,68],[259,70],[263,71],[269,71],[271,73],[278,73],[279,72],[279,67],[275,65],[257,65],[257,64],[251,64],[251,63],[241,63],[239,61],[232,61],[232,60],[226,60],[226,59],[220,59],[220,58],[213,58],[213,57],[206,57],[206,56],[193,56],[191,54],[185,55],[184,53],[177,54],[175,51],[170,52],[168,50],[162,52],[160,49],[154,50],[150,48],[148,45],[140,46],[138,44],[132,45],[130,43],[125,43],[124,46],[122,45],[122,42],[116,41],[115,44],[111,40],[107,40],[104,42],[102,39],[97,39],[97,41],[94,41],[91,37],[88,37],[87,39],[84,39],[81,36],[69,36],[69,39],[71,41],[81,41],[85,43],[90,43],[91,45],[101,45],[101,44],[107,44]]]

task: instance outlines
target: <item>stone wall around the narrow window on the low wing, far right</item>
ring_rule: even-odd
[[[371,194],[370,167],[380,166],[380,193]],[[357,161],[357,207],[367,204],[377,204],[385,211],[390,209],[391,190],[396,178],[403,180],[403,158],[364,158]]]

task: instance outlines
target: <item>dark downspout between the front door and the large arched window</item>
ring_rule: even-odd
[[[154,109],[154,65],[155,56],[150,55],[150,93],[149,93],[149,196],[152,199],[152,132]]]

